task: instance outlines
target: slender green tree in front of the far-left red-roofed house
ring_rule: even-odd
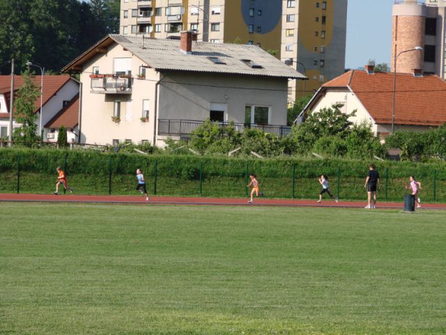
[[[22,79],[23,85],[17,91],[17,98],[15,98],[15,121],[21,126],[15,128],[14,140],[31,147],[39,140],[38,135],[36,135],[37,124],[36,114],[34,113],[39,92],[29,73],[24,73]]]

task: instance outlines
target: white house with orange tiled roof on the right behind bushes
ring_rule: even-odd
[[[397,73],[394,131],[425,131],[446,123],[446,82],[436,75],[415,76]],[[302,114],[342,103],[341,112],[356,116],[351,121],[367,120],[375,135],[385,137],[392,128],[394,73],[350,70],[318,89]]]

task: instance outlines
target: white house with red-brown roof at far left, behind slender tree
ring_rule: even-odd
[[[40,75],[36,75],[33,77],[33,82],[40,90],[40,82],[42,77]],[[8,128],[9,128],[9,108],[10,108],[10,83],[11,77],[10,75],[0,75],[0,137],[8,137]],[[14,90],[17,94],[17,90],[20,89],[23,85],[23,80],[20,75],[14,76]],[[39,91],[40,93],[40,91]],[[40,115],[42,116],[42,125],[44,129],[44,140],[56,141],[57,136],[54,135],[56,133],[56,128],[59,129],[60,126],[54,127],[52,130],[46,128],[46,124],[49,124],[49,121],[54,119],[56,114],[60,114],[67,109],[64,108],[69,103],[72,103],[73,100],[77,100],[79,96],[79,82],[77,80],[70,77],[70,75],[45,75],[43,76],[43,100],[42,100],[42,110],[40,113],[40,94],[34,103],[36,109],[35,113],[37,114],[36,124],[39,126],[40,124]],[[79,106],[77,104],[77,106]],[[72,113],[72,110],[70,110]],[[77,110],[77,119],[79,115],[79,108]],[[72,118],[72,116],[70,117]],[[15,121],[13,122],[13,128],[16,128],[17,124]],[[77,122],[75,125],[70,122],[69,124],[63,124],[68,128],[68,141],[75,139],[75,133]]]

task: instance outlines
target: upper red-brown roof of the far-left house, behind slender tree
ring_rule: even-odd
[[[40,82],[42,80],[41,75],[36,75],[31,77],[31,80],[39,89],[39,96],[36,99],[36,110],[40,110]],[[59,91],[70,80],[70,75],[44,75],[43,76],[43,99],[42,104],[45,105],[49,99],[54,96],[54,94]],[[20,75],[14,76],[14,90],[17,94],[17,90],[23,85],[23,78]],[[10,75],[0,75],[0,94],[3,94],[6,98],[6,103],[8,104],[9,110],[9,99],[10,99],[10,87],[11,87],[11,76]]]

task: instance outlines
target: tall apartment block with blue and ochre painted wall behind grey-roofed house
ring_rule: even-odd
[[[259,45],[308,77],[290,81],[294,101],[344,73],[347,1],[121,0],[120,33]]]

